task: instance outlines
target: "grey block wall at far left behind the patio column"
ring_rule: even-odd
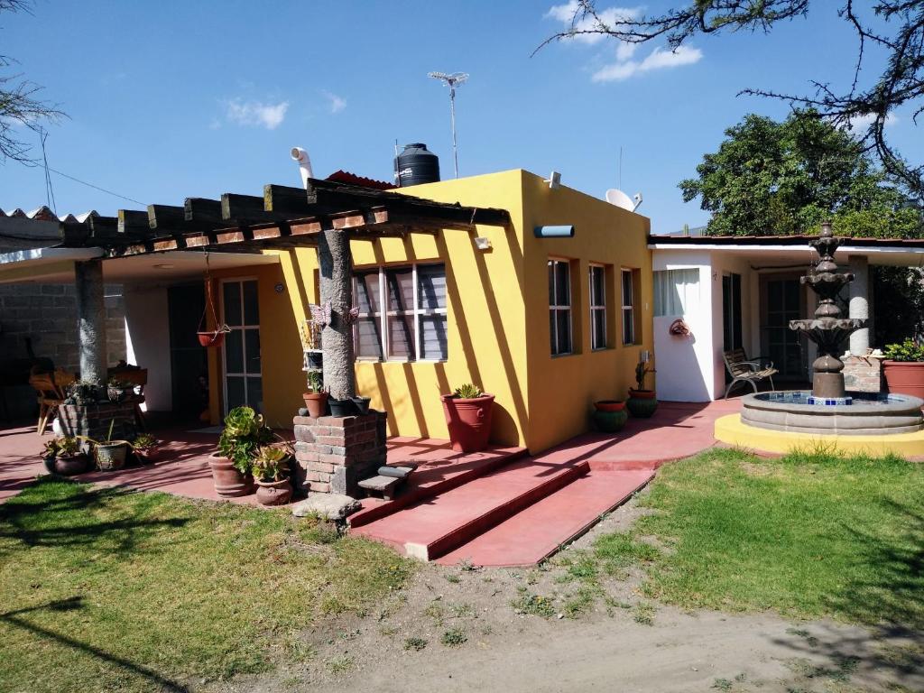
[[[105,287],[106,342],[109,365],[125,359],[125,309],[122,287]],[[77,297],[73,284],[0,286],[0,359],[25,359],[26,338],[37,357],[56,368],[79,371]]]

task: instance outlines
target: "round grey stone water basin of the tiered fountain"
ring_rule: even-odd
[[[771,431],[840,435],[924,429],[924,401],[911,395],[850,393],[850,404],[809,404],[811,397],[810,392],[799,390],[747,395],[741,403],[741,423]]]

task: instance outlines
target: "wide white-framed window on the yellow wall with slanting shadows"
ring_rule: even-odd
[[[358,359],[448,358],[444,264],[380,267],[354,274]]]

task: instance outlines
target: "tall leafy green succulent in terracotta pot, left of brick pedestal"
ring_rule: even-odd
[[[250,407],[236,407],[225,417],[218,451],[209,458],[215,492],[234,497],[253,491],[251,465],[257,448],[270,443],[273,432]]]

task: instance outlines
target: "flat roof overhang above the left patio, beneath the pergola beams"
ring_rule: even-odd
[[[67,284],[74,281],[74,264],[103,258],[102,248],[41,248],[0,255],[0,284]],[[211,252],[211,271],[277,264],[267,253]],[[173,250],[103,261],[103,279],[116,284],[177,283],[199,280],[205,273],[201,250]]]

